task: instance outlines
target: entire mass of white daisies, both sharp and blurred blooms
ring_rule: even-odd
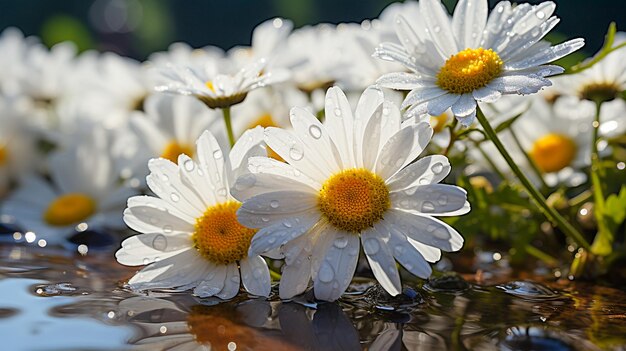
[[[116,258],[146,266],[135,290],[267,296],[271,259],[281,298],[312,282],[332,301],[364,257],[397,295],[396,262],[427,278],[463,245],[435,218],[470,210],[464,189],[441,183],[444,155],[474,159],[466,173],[504,168],[491,141],[463,138],[489,133],[481,117],[509,122],[504,144],[550,187],[584,182],[592,128],[623,134],[624,50],[551,81],[564,70],[550,63],[583,46],[544,40],[554,10],[460,0],[450,16],[440,0],[407,1],[360,24],[276,18],[250,46],[176,43],[145,62],[5,30],[2,222],[40,246],[125,223],[140,234]],[[598,94],[609,102],[594,125]]]

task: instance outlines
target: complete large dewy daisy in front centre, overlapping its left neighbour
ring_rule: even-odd
[[[432,216],[468,212],[466,192],[436,184],[450,171],[446,157],[412,163],[432,128],[414,118],[401,124],[380,90],[367,89],[353,113],[331,88],[325,111],[324,124],[293,108],[293,131],[267,128],[265,142],[288,163],[251,158],[251,173],[234,184],[234,196],[245,199],[239,221],[260,228],[249,253],[280,248],[281,298],[302,293],[312,278],[316,298],[333,301],[350,284],[361,242],[378,281],[397,295],[394,258],[425,278],[440,250],[461,248],[459,233]]]

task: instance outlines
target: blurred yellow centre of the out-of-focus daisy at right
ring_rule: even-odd
[[[530,156],[544,172],[556,172],[572,163],[576,144],[561,134],[548,134],[535,141]]]

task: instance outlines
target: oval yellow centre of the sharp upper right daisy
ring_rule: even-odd
[[[471,93],[486,86],[502,71],[502,60],[492,49],[465,49],[450,56],[437,73],[437,85],[453,94]]]

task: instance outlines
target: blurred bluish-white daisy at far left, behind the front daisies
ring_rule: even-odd
[[[52,184],[36,175],[25,176],[0,209],[33,232],[40,245],[62,243],[77,226],[124,227],[120,212],[135,191],[119,185],[104,131],[94,129],[90,136],[89,143],[50,156]]]

